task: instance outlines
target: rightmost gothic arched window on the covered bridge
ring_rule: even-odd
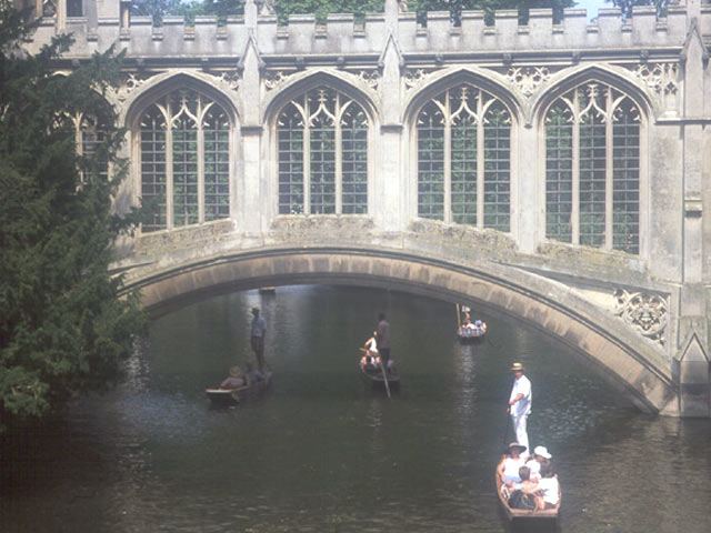
[[[602,82],[572,89],[545,115],[545,237],[639,253],[640,112]]]

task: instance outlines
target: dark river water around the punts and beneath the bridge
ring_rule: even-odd
[[[210,409],[206,386],[252,356],[254,305],[272,386]],[[402,380],[392,400],[358,369],[379,311]],[[529,438],[553,454],[563,532],[711,531],[710,420],[643,414],[540,333],[475,308],[472,318],[488,339],[460,345],[451,303],[307,285],[156,319],[114,391],[34,440],[6,438],[1,530],[503,532],[493,475],[513,440],[509,368],[521,361]]]

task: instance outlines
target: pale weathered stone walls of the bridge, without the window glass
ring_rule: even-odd
[[[244,17],[228,18],[224,26],[206,17],[186,27],[182,18],[167,17],[153,27],[149,18],[130,17],[130,1],[84,0],[83,17],[67,17],[66,3],[59,0],[56,13],[42,19],[27,48],[36,51],[57,32],[72,32],[76,44],[58,64],[60,72],[112,44],[127,51],[123,84],[109,95],[130,132],[124,155],[132,173],[119,209],[147,190],[141,134],[148,130],[141,121],[149,105],[189,88],[210,102],[200,105],[223,110],[229,212],[209,220],[209,200],[201,199],[186,222],[178,218],[178,200],[168,200],[163,227],[120,245],[117,269],[143,289],[147,305],[216,286],[304,280],[470,299],[571,345],[644,409],[711,414],[711,225],[703,215],[711,202],[711,6],[682,0],[665,19],[657,19],[653,8],[634,8],[628,20],[604,9],[592,23],[583,10],[569,9],[558,24],[549,10],[532,10],[525,27],[513,11],[497,12],[491,27],[481,12],[462,13],[461,27],[452,27],[448,13],[429,13],[427,27],[419,27],[414,13],[387,0],[383,13],[368,14],[362,24],[351,14],[332,14],[323,27],[311,16],[291,17],[282,27],[248,0]],[[639,228],[632,253],[615,248],[613,221],[594,247],[583,245],[582,230],[574,228],[570,242],[547,233],[547,113],[555,102],[570,103],[584,84],[590,100],[581,97],[570,109],[589,112],[594,104],[594,120],[612,123],[613,105],[627,99],[637,113]],[[459,87],[479,91],[479,111],[467,95],[459,108],[445,102],[460,98],[453,91]],[[603,98],[595,100],[602,90],[609,108]],[[311,118],[330,113],[324,91],[336,94],[332,109],[354,102],[367,124],[367,192],[352,214],[340,197],[332,212],[319,211],[313,183],[299,211],[282,209],[281,113],[289,105],[294,117],[307,113],[309,94]],[[457,222],[453,202],[444,202],[437,217],[422,215],[418,121],[428,102],[448,91],[452,95],[432,107],[443,110],[447,123],[469,114],[472,124],[484,124],[489,104],[504,112],[500,131],[510,144],[503,231],[487,222],[483,184],[471,223]],[[171,120],[190,113],[177,108]],[[200,128],[199,135],[212,132],[209,124]],[[337,145],[344,142],[339,135],[360,131],[352,128],[339,122]],[[478,154],[472,150],[472,160],[489,157],[482,147]],[[313,161],[304,159],[316,167]],[[617,160],[607,161],[610,173]],[[578,155],[572,164],[580,165]],[[204,191],[201,172],[196,188]],[[490,175],[488,167],[479,172]],[[169,185],[176,187],[173,174]],[[346,190],[347,178],[338,174],[334,187]],[[455,185],[453,177],[445,181],[445,193]],[[608,211],[611,194],[603,202]],[[572,209],[573,219],[583,217],[582,207]],[[412,266],[403,268],[408,262]]]

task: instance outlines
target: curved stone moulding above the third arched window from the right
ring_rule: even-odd
[[[309,71],[289,77],[283,86],[279,90],[274,89],[274,94],[270,94],[264,101],[262,122],[271,129],[284,105],[293,98],[319,86],[328,86],[352,98],[364,109],[373,127],[381,122],[377,97],[372,89],[352,74],[330,70]]]

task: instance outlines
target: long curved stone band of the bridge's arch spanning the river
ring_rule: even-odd
[[[477,270],[440,259],[377,249],[262,249],[223,254],[161,272],[130,273],[144,309],[160,313],[211,294],[286,284],[348,284],[475,302],[562,342],[639,409],[677,414],[678,391],[658,353],[613,316],[560,286],[520,271]],[[572,302],[572,303],[571,303]]]

